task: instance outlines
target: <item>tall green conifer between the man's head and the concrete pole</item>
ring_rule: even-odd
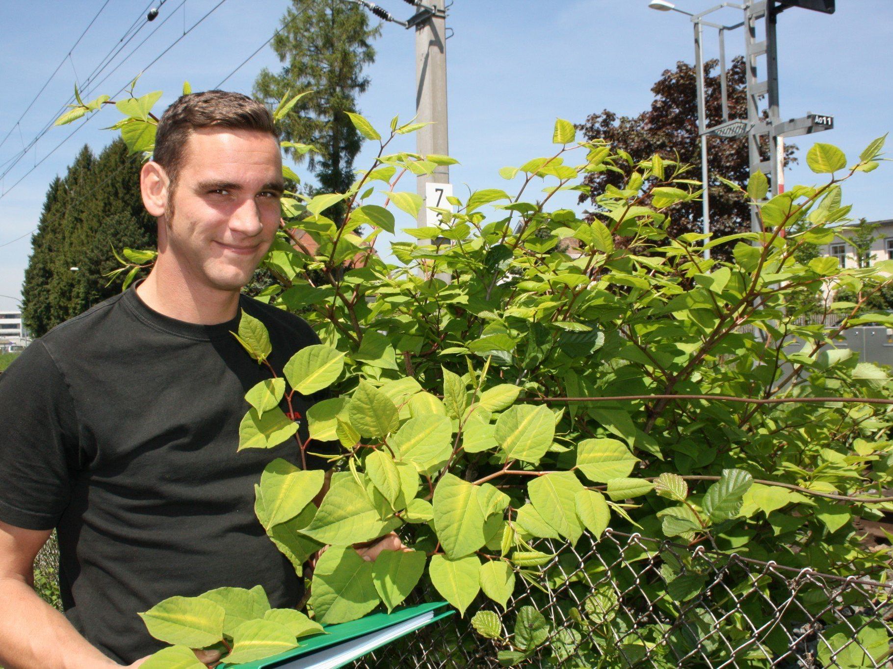
[[[292,0],[280,23],[272,48],[283,67],[261,70],[254,95],[278,103],[289,93],[313,91],[280,121],[282,138],[318,148],[304,154],[307,168],[321,191],[343,193],[354,182],[354,158],[363,144],[345,112],[356,111],[357,95],[369,87],[363,68],[375,59],[371,40],[380,26],[370,27],[365,10],[343,0]],[[286,153],[296,161],[304,157],[290,148]]]

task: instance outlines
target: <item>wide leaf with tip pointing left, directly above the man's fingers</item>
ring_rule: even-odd
[[[332,476],[313,522],[301,532],[320,543],[347,546],[371,541],[399,525],[398,519],[381,520],[366,491],[345,472]]]

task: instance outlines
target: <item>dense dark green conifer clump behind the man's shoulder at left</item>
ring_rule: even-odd
[[[155,221],[139,194],[140,167],[118,139],[98,157],[84,146],[65,177],[50,185],[22,287],[23,318],[34,335],[121,290],[104,277],[119,264],[113,248],[154,248]]]

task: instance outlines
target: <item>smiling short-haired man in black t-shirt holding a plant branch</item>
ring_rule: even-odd
[[[272,606],[294,607],[302,594],[254,514],[263,467],[300,462],[296,442],[237,452],[244,394],[269,377],[230,334],[241,310],[269,329],[273,368],[319,343],[301,318],[239,294],[280,223],[270,112],[244,95],[183,95],[140,185],[158,219],[149,276],[32,343],[0,379],[6,669],[137,667],[164,645],[137,612],[173,595],[261,584]],[[303,416],[312,402],[296,399]],[[53,528],[64,616],[31,588]]]

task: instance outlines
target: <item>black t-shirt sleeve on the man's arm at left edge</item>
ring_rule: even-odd
[[[0,520],[53,529],[68,506],[77,420],[67,384],[44,343],[0,374]]]

